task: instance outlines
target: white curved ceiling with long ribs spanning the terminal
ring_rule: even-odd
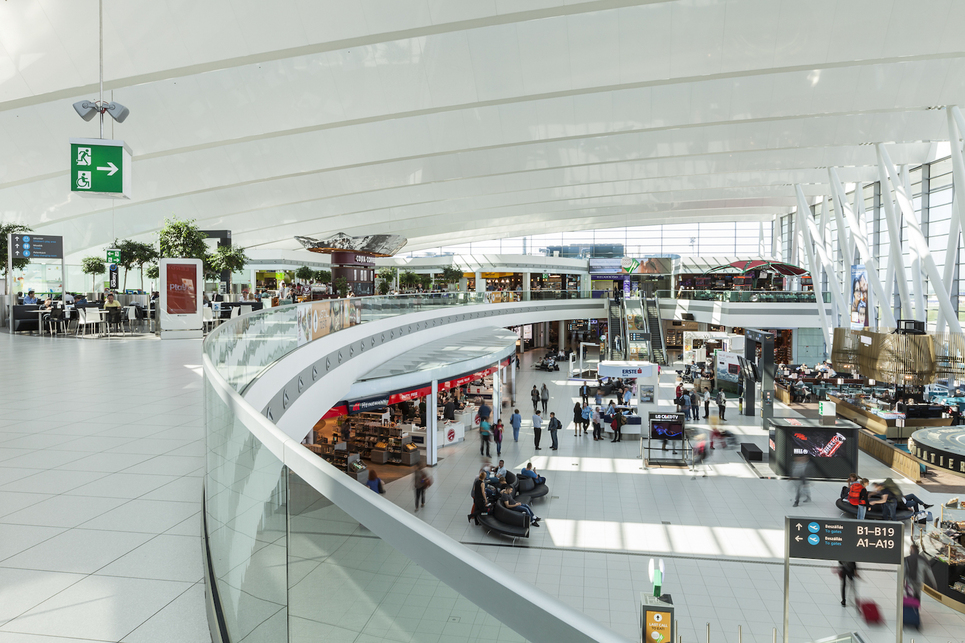
[[[793,184],[920,163],[965,102],[956,0],[105,0],[134,199],[68,191],[97,3],[0,3],[0,220],[72,258],[164,217],[235,243],[407,250],[770,219]],[[108,98],[110,95],[108,94]],[[106,136],[112,123],[106,119]],[[112,205],[113,211],[112,211]]]

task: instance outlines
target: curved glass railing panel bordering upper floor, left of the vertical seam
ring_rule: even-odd
[[[205,508],[232,643],[288,638],[285,467],[205,382]]]

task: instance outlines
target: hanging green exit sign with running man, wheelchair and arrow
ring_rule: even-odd
[[[131,198],[131,150],[124,141],[70,139],[70,191],[80,196]]]

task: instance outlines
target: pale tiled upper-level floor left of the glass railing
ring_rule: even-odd
[[[0,643],[210,640],[200,364],[0,333]]]

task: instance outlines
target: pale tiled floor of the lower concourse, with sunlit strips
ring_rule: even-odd
[[[579,383],[568,382],[562,372],[533,369],[534,356],[542,352],[523,356],[517,372],[523,429],[518,443],[511,430],[503,443],[508,467],[518,471],[532,461],[548,479],[549,496],[533,502],[542,526],[531,529],[528,541],[513,546],[509,538],[467,524],[471,482],[483,461],[477,431],[469,432],[466,442],[440,450],[426,506],[415,515],[631,640],[639,638],[639,595],[652,590],[647,576],[651,557],[665,561],[664,591],[673,596],[684,641],[703,642],[707,623],[713,643],[736,641],[738,625],[745,642],[769,643],[774,627],[780,640],[784,517],[839,516],[834,500],[841,483],[812,483],[812,502],[793,508],[793,483],[762,479],[760,475],[769,472],[766,464],[755,463],[752,469],[733,449],[713,452],[707,477],[692,479],[690,472],[674,469],[645,471],[637,458],[639,442],[632,438],[613,444],[574,437],[572,409]],[[661,399],[673,397],[675,375],[673,369],[664,369]],[[565,429],[559,450],[551,451],[544,428],[543,448],[536,452],[528,392],[544,382],[552,395],[549,410],[557,412]],[[798,415],[784,405],[777,414]],[[711,415],[716,416],[715,405]],[[508,414],[503,417],[505,423]],[[755,442],[766,451],[760,425],[738,416],[734,401],[727,417],[727,428],[741,441]],[[705,422],[696,424],[706,427]],[[495,462],[495,450],[492,455]],[[859,469],[872,480],[895,477],[926,502],[948,497],[898,478],[864,453]],[[411,477],[388,484],[387,497],[412,512]],[[869,627],[852,605],[841,606],[832,563],[796,561],[791,570],[792,641],[848,631],[866,634],[869,641],[895,640],[895,568],[859,567],[859,595],[879,604],[887,624]],[[906,641],[960,641],[965,632],[965,614],[927,597],[922,620],[924,629],[907,630]]]

